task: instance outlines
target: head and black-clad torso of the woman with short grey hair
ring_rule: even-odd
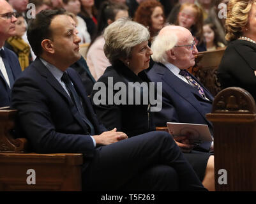
[[[144,72],[144,69],[149,67],[150,55],[153,54],[147,45],[149,31],[144,25],[128,18],[120,18],[105,29],[103,36],[104,52],[112,66],[109,66],[98,80],[106,86],[106,104],[98,103],[97,96],[100,92],[92,93],[96,114],[106,128],[117,128],[117,131],[122,130],[129,136],[153,131],[154,123],[148,108],[149,103],[142,104],[143,101],[140,100],[140,104],[137,105],[135,96],[138,94],[142,99],[144,95],[148,96],[148,90],[137,89],[139,92],[135,94],[128,91],[131,82],[144,82],[147,87],[151,82]],[[109,84],[110,81],[113,85]],[[126,90],[114,89],[117,83],[123,84]],[[110,94],[111,92],[113,94]],[[121,103],[115,100],[117,92],[122,95],[118,97]]]

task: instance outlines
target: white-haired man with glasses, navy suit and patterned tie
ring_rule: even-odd
[[[151,49],[157,63],[149,71],[149,78],[163,83],[163,108],[155,113],[156,126],[166,126],[166,122],[207,124],[213,135],[213,125],[206,119],[206,113],[211,112],[214,98],[186,71],[195,64],[198,53],[190,31],[176,25],[163,27]],[[213,150],[211,142],[199,147]]]

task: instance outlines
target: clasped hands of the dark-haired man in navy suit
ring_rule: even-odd
[[[128,136],[123,132],[117,132],[114,128],[110,131],[105,131],[100,135],[94,135],[93,138],[97,145],[110,145],[114,142],[127,139]]]

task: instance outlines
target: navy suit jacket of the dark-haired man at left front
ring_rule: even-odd
[[[78,73],[71,68],[67,71],[96,135],[106,131],[94,114]],[[19,110],[20,129],[35,152],[80,152],[93,157],[93,140],[72,99],[40,59],[25,69],[13,85],[11,105]]]

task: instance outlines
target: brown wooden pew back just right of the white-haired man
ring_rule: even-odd
[[[220,61],[224,54],[225,48],[220,48],[214,51],[199,52],[195,58],[195,66],[188,69],[192,75],[215,96],[220,92],[220,82],[216,75]]]

